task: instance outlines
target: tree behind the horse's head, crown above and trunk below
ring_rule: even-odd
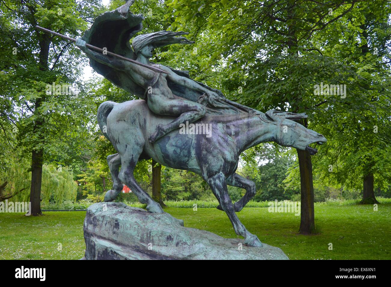
[[[350,13],[356,2],[203,0],[183,5],[171,0],[168,5],[178,17],[174,28],[191,31],[190,38],[198,43],[197,59],[203,57],[207,67],[202,73],[217,70],[223,75],[219,85],[227,97],[260,110],[306,111],[310,118],[303,124],[307,126],[311,113],[325,103],[314,95],[314,84],[321,79],[338,83],[341,75],[348,79],[351,72],[339,61],[324,57],[315,39]],[[323,123],[332,117],[323,115]],[[297,153],[300,232],[307,234],[315,229],[312,162],[308,151]]]

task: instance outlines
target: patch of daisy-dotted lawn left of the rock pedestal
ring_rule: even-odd
[[[80,259],[86,212],[0,213],[0,259]],[[58,250],[61,244],[62,251]]]

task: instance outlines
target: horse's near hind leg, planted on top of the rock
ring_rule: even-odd
[[[152,213],[161,213],[163,209],[160,204],[154,201],[149,194],[147,194],[136,182],[135,176],[133,174],[140,153],[129,153],[121,157],[121,171],[118,175],[119,179],[124,182],[132,192],[137,196],[138,200],[141,203],[147,204],[147,210]]]

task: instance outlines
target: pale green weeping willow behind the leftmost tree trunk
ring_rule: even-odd
[[[8,170],[7,192],[14,193],[24,187],[28,187],[8,201],[29,201],[31,172],[26,168],[28,165],[13,165]],[[77,183],[73,179],[72,170],[68,167],[56,167],[54,165],[43,165],[41,199],[42,203],[56,202],[63,203],[65,200],[76,201]]]

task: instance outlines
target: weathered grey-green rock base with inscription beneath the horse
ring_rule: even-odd
[[[183,227],[169,213],[149,213],[124,203],[96,203],[84,220],[83,259],[288,259],[267,244],[249,247],[242,239]],[[240,249],[242,247],[242,250]]]

